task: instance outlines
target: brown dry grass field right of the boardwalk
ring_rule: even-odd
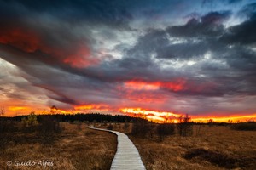
[[[113,130],[131,133],[122,124]],[[103,126],[102,126],[103,127]],[[160,141],[156,136],[138,138],[129,134],[148,170],[256,169],[256,132],[236,131],[230,127],[194,125],[194,134],[177,134]],[[200,131],[199,131],[200,130]]]

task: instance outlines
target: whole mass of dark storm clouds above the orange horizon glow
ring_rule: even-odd
[[[253,12],[226,27],[233,10],[204,8],[191,15],[196,8],[186,9],[193,5],[154,0],[0,1],[0,57],[24,71],[21,77],[45,90],[49,99],[68,105],[146,106],[163,98],[163,109],[196,112],[201,101],[212,105],[209,97],[255,95]],[[253,4],[246,8],[254,10]],[[177,26],[172,23],[175,16],[189,20]],[[120,37],[127,32],[135,38]],[[129,81],[137,82],[135,88],[148,83],[155,91],[127,88]]]

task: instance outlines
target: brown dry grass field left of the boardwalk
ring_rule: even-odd
[[[34,133],[15,133],[16,143],[1,152],[0,169],[109,169],[116,151],[112,133],[90,130],[85,124],[61,123],[64,126],[54,144],[42,144]],[[15,161],[49,161],[53,166],[14,166]],[[12,161],[12,166],[7,162]]]

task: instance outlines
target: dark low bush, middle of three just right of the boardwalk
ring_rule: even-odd
[[[157,126],[157,134],[163,140],[168,135],[175,134],[175,125],[171,123],[160,124]]]

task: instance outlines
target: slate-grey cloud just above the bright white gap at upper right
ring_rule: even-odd
[[[222,22],[230,16],[229,11],[212,12],[200,20],[191,19],[184,26],[171,26],[166,30],[149,30],[139,37],[134,48],[128,51],[128,61],[137,66],[150,66],[150,54],[156,54],[159,59],[190,59],[201,57],[208,50],[222,49],[218,36],[224,34]],[[134,59],[137,59],[137,63]],[[140,65],[141,61],[146,65]],[[126,65],[126,62],[125,62]]]

